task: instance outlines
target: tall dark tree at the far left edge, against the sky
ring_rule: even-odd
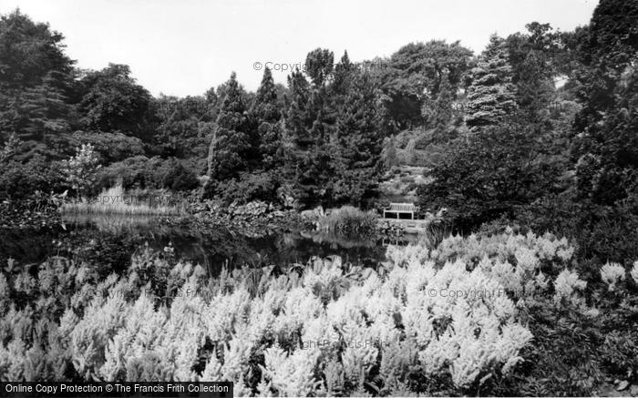
[[[0,141],[15,134],[42,142],[75,124],[74,61],[63,39],[19,10],[0,17]]]

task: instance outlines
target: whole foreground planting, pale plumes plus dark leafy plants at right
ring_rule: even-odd
[[[3,381],[218,381],[242,395],[591,394],[638,369],[638,262],[583,281],[551,235],[450,237],[388,262],[224,270],[143,250],[0,276]]]

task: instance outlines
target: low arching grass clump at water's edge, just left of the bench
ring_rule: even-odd
[[[334,209],[317,220],[319,230],[339,232],[346,235],[365,235],[376,230],[376,215],[352,206]]]

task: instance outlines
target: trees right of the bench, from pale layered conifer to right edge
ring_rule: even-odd
[[[606,0],[573,32],[493,36],[468,74],[469,129],[427,171],[422,205],[455,230],[518,225],[587,258],[637,257],[636,26],[638,5]]]

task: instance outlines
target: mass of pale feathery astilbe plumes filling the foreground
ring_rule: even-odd
[[[424,393],[423,380],[466,391],[516,372],[532,339],[520,316],[521,291],[553,285],[554,305],[584,305],[586,283],[571,271],[571,252],[551,235],[449,237],[436,250],[390,247],[382,276],[351,278],[340,260],[314,260],[302,277],[262,277],[252,293],[246,272],[222,271],[209,281],[201,268],[179,262],[169,270],[161,260],[169,301],[149,284],[160,261],[150,256],[127,276],[68,294],[57,327],[46,317],[31,321],[47,301],[5,309],[0,372],[55,380],[53,358],[32,363],[39,350],[32,341],[48,333],[59,358],[88,380],[228,380],[236,393],[263,396]],[[540,272],[544,266],[561,272],[554,280],[555,273]],[[75,264],[51,267],[60,272],[42,269],[36,291],[97,281]],[[638,261],[634,279],[637,269]],[[603,273],[612,274],[602,271],[603,280]],[[4,277],[6,297],[18,277],[20,291],[33,292],[15,274]],[[151,286],[151,294],[140,293]]]

